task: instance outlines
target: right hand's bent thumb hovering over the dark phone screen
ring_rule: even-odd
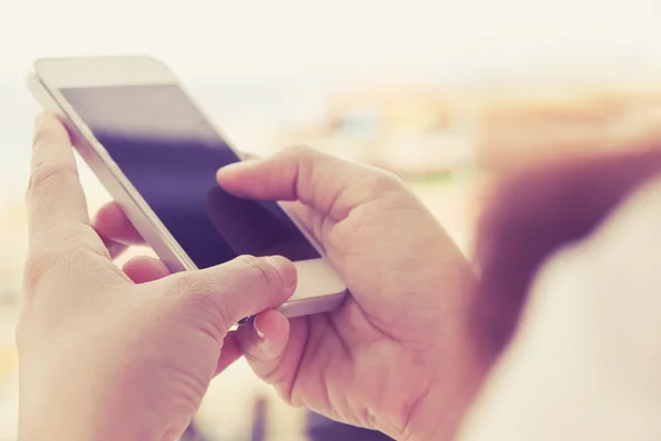
[[[220,169],[218,183],[236,196],[295,201],[339,220],[383,192],[401,190],[391,173],[306,148]]]

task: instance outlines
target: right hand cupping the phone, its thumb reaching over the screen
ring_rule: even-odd
[[[235,195],[290,201],[351,297],[288,321],[274,311],[237,341],[294,406],[397,439],[444,439],[485,366],[470,326],[476,277],[438,222],[392,174],[307,149],[221,169]]]

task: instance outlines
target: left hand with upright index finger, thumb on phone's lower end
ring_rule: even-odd
[[[39,119],[28,205],[21,441],[175,439],[212,377],[240,356],[229,327],[294,291],[295,268],[281,257],[170,277],[151,259],[117,268],[53,116]]]

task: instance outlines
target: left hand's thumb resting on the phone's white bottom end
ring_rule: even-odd
[[[239,320],[284,303],[296,288],[296,268],[281,256],[241,256],[162,281],[175,310],[221,341]]]

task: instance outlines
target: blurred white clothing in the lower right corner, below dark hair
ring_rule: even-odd
[[[543,266],[517,335],[457,439],[661,440],[660,415],[657,181]]]

